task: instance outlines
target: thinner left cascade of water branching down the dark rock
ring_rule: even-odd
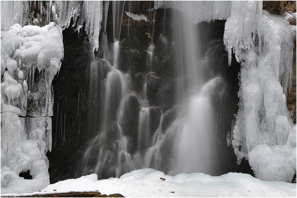
[[[108,4],[105,4],[104,13],[104,30],[106,28]],[[107,175],[120,176],[123,172],[127,172],[134,169],[131,165],[131,156],[127,153],[127,140],[123,135],[121,127],[123,120],[123,111],[127,102],[128,94],[128,75],[123,74],[118,70],[118,56],[120,50],[120,29],[123,18],[123,6],[122,1],[113,1],[113,24],[114,24],[114,45],[113,50],[108,48],[106,32],[102,33],[99,49],[100,58],[94,57],[94,53],[91,52],[91,83],[90,90],[97,92],[99,77],[94,75],[101,75],[101,81],[105,84],[104,89],[104,103],[103,112],[99,115],[103,115],[101,126],[98,127],[94,123],[91,126],[96,126],[96,137],[91,141],[90,146],[86,150],[82,166],[84,167],[81,174],[97,173],[99,176],[104,177]],[[111,64],[112,63],[112,64]],[[100,70],[100,71],[99,71]],[[100,74],[97,73],[100,72]],[[94,80],[92,79],[94,78]],[[106,78],[106,79],[104,79]],[[91,92],[91,99],[94,96]],[[94,101],[98,103],[99,98]],[[96,107],[96,106],[95,106]],[[93,114],[94,109],[90,108],[90,117],[98,116]],[[96,110],[95,110],[96,111]],[[92,120],[94,118],[91,118]],[[89,127],[90,128],[90,127]],[[112,146],[111,146],[112,145]],[[131,167],[132,166],[132,167]],[[105,173],[102,170],[108,169]],[[78,173],[79,174],[79,173]]]

